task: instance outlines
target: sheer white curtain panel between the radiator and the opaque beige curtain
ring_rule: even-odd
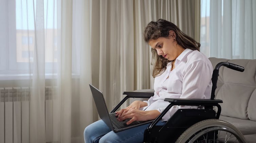
[[[84,142],[84,128],[93,122],[89,89],[91,70],[91,2],[58,1],[57,98],[53,103],[53,141]],[[57,13],[58,13],[57,12]],[[48,131],[46,131],[48,132]],[[47,137],[47,136],[46,136]]]

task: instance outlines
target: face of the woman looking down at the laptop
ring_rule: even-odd
[[[177,44],[175,33],[170,30],[169,37],[159,37],[156,40],[149,40],[148,44],[157,50],[159,56],[172,61],[175,60],[185,49]]]

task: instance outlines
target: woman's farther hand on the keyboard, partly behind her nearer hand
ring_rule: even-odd
[[[122,114],[127,113],[128,111],[130,111],[131,109],[140,109],[141,107],[145,107],[148,104],[146,102],[143,101],[134,101],[133,103],[131,103],[128,107],[126,107],[125,109],[121,109],[116,113],[116,117],[121,117]]]

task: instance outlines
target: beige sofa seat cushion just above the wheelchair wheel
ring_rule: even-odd
[[[243,135],[256,134],[256,122],[251,120],[243,120],[233,117],[220,116],[220,120],[233,124]]]

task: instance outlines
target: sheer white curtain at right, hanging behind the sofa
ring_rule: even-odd
[[[201,0],[201,39],[208,57],[256,58],[256,2]]]

